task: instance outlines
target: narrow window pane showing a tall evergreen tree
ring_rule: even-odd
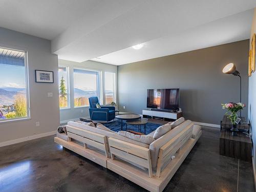
[[[69,102],[69,68],[59,67],[59,108],[70,107]]]

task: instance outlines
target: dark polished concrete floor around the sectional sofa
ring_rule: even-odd
[[[165,191],[255,191],[252,165],[219,155],[218,129],[203,135]],[[145,191],[53,142],[54,136],[0,147],[0,191]]]

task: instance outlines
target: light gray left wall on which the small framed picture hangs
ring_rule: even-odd
[[[0,46],[28,51],[31,119],[0,122],[2,142],[56,131],[59,125],[58,58],[51,54],[49,40],[0,28]],[[54,72],[54,83],[36,83],[35,70]],[[52,92],[53,97],[47,97]],[[36,127],[35,122],[40,126]]]

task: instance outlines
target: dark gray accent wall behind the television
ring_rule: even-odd
[[[222,73],[227,63],[240,71],[242,102],[248,103],[248,51],[249,40],[242,40],[118,66],[119,109],[142,114],[147,89],[180,88],[185,119],[220,124],[221,103],[240,100],[239,77]]]

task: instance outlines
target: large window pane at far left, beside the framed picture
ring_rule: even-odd
[[[0,48],[0,121],[29,117],[26,53]]]

